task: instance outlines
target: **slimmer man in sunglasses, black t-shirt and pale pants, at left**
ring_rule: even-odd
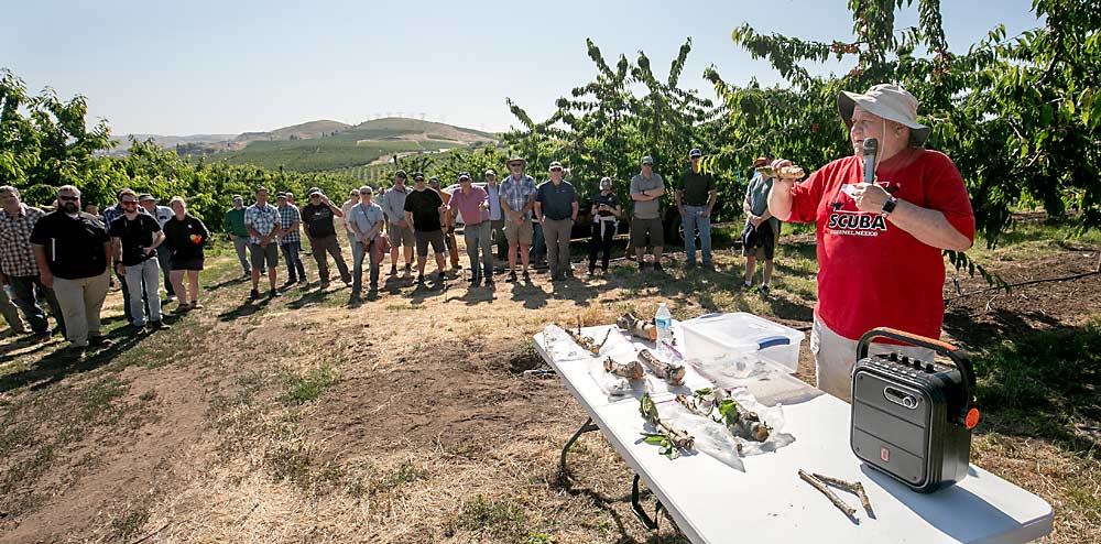
[[[154,329],[164,328],[159,292],[161,264],[156,259],[156,248],[164,241],[164,232],[153,216],[138,213],[138,194],[133,191],[122,189],[119,204],[122,215],[111,221],[109,232],[115,249],[115,269],[127,279],[124,285],[130,290],[130,323],[135,334],[145,330],[148,301],[150,325]]]

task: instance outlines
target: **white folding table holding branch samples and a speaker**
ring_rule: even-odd
[[[589,327],[582,334],[599,339],[608,328]],[[645,347],[641,340],[632,341]],[[644,422],[636,399],[610,402],[585,361],[552,359],[542,333],[535,335],[535,345],[589,415],[563,448],[563,465],[573,442],[599,428],[634,470],[633,507],[651,527],[655,525],[637,504],[640,477],[694,543],[1012,544],[1051,531],[1054,514],[1047,502],[973,465],[962,481],[931,494],[911,491],[863,465],[849,448],[849,404],[792,377],[785,378],[798,382],[792,391],[799,394],[787,395],[795,402],[784,404],[783,431],[794,435],[795,443],[745,457],[744,471],[704,453],[667,459],[658,447],[642,442]],[[687,385],[707,383],[691,368],[688,373]],[[799,478],[799,469],[861,481],[874,518],[865,514],[854,496],[837,491],[858,509],[855,521],[847,518]]]

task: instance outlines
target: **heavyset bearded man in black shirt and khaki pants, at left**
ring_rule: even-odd
[[[111,239],[98,218],[80,211],[80,189],[57,189],[57,210],[39,219],[31,232],[42,283],[54,290],[65,317],[65,338],[77,358],[90,346],[110,346],[100,329],[110,274]]]

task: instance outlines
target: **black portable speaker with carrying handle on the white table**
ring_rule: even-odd
[[[952,366],[897,352],[868,356],[875,338],[933,349]],[[852,370],[852,453],[871,467],[931,493],[967,476],[971,429],[979,423],[974,369],[950,344],[891,328],[860,338]]]

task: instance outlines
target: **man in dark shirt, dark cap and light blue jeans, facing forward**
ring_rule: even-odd
[[[711,208],[715,207],[715,176],[704,173],[699,161],[704,152],[694,149],[688,152],[691,166],[680,175],[677,184],[677,209],[685,232],[685,265],[696,268],[696,232],[699,232],[704,268],[711,268]]]

